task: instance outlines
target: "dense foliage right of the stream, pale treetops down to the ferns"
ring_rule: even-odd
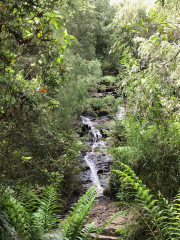
[[[110,190],[137,215],[136,231],[124,239],[179,238],[178,203],[172,204],[180,184],[179,4],[160,3],[122,1],[124,11],[119,8],[111,24],[111,54],[119,54],[121,64],[117,87],[127,104],[126,118],[111,132]]]

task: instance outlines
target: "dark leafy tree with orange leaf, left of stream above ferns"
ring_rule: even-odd
[[[64,27],[74,11],[69,4],[0,1],[1,180],[45,185],[78,170],[76,138],[56,131],[63,53],[75,39]]]

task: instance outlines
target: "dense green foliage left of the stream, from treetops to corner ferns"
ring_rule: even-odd
[[[56,226],[53,213],[61,198],[66,205],[73,192],[81,192],[77,157],[82,143],[74,124],[87,105],[92,109],[88,91],[97,91],[102,80],[100,60],[108,50],[100,49],[99,41],[108,41],[101,28],[113,17],[108,7],[108,1],[0,1],[4,239],[41,238]],[[104,22],[106,12],[110,17]]]

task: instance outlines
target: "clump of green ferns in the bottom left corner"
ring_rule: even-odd
[[[9,187],[0,186],[0,238],[5,240],[42,239],[57,224],[55,209],[58,206],[56,189],[47,187],[44,196],[32,194],[28,202],[24,197],[15,198],[15,192]],[[20,201],[21,199],[21,201]],[[34,205],[34,206],[33,206]],[[39,205],[39,206],[38,206]],[[38,209],[37,209],[38,207]],[[32,212],[37,209],[35,212]]]

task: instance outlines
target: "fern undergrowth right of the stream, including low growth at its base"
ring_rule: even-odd
[[[122,191],[125,190],[134,198],[135,204],[128,204],[128,206],[136,216],[131,231],[129,228],[126,232],[119,231],[123,232],[123,239],[180,239],[180,192],[172,203],[169,203],[160,193],[156,199],[129,166],[121,162],[118,164],[121,170],[114,171],[120,178]],[[141,238],[135,238],[137,233]]]

